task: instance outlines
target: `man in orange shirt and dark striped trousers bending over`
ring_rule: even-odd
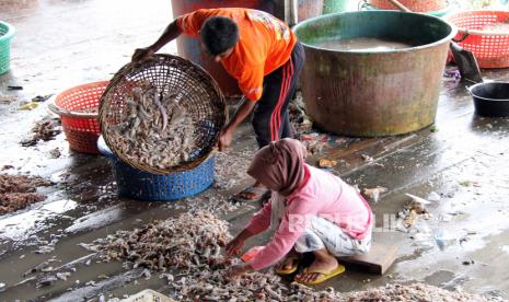
[[[251,9],[204,9],[173,21],[151,46],[136,49],[142,61],[169,42],[187,34],[200,38],[203,51],[220,62],[244,94],[242,104],[221,130],[219,150],[232,141],[236,127],[250,115],[258,147],[292,137],[288,104],[304,62],[302,45],[282,21]],[[259,200],[267,189],[258,182],[236,196]]]

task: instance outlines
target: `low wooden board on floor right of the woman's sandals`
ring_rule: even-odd
[[[373,244],[368,254],[340,257],[339,262],[354,264],[358,267],[366,268],[366,270],[370,272],[383,275],[392,266],[396,258],[397,246]]]

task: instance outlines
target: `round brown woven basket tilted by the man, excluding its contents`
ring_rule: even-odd
[[[149,82],[161,93],[178,92],[182,95],[178,104],[185,108],[195,126],[195,148],[188,161],[166,169],[151,166],[127,156],[108,138],[106,129],[122,123],[128,95],[141,82]],[[201,67],[177,56],[154,55],[142,65],[124,66],[113,77],[101,98],[99,116],[106,144],[122,161],[144,172],[169,174],[192,170],[209,156],[217,144],[228,112],[219,85]]]

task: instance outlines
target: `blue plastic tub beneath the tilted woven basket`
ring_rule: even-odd
[[[108,159],[117,181],[118,195],[124,197],[170,201],[196,195],[213,184],[213,155],[193,170],[159,175],[136,170],[119,161],[103,137],[97,140],[97,149]]]

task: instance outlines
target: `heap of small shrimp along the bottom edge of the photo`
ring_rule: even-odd
[[[322,291],[292,282],[287,286],[271,272],[244,274],[238,279],[225,277],[223,270],[199,271],[169,283],[178,301],[491,301],[462,291],[448,291],[423,283],[386,284],[366,291],[342,293],[334,288]]]

